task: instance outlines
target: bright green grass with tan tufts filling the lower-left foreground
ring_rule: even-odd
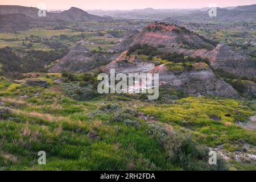
[[[98,101],[74,101],[37,86],[4,82],[1,92],[14,111],[11,119],[0,121],[1,169],[176,169],[168,163],[162,146],[147,135],[143,123],[135,128],[109,124],[105,117],[89,118]],[[36,92],[40,92],[38,97]],[[18,97],[24,93],[30,98]],[[100,139],[86,137],[88,133]],[[34,160],[41,150],[47,152],[46,166]]]

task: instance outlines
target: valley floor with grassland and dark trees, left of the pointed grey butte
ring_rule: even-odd
[[[22,73],[47,72],[47,65],[67,55],[69,49],[79,41],[92,53],[104,53],[119,38],[105,38],[102,35],[107,32],[118,35],[125,31],[80,32],[34,28],[0,34],[0,74],[17,78]]]

